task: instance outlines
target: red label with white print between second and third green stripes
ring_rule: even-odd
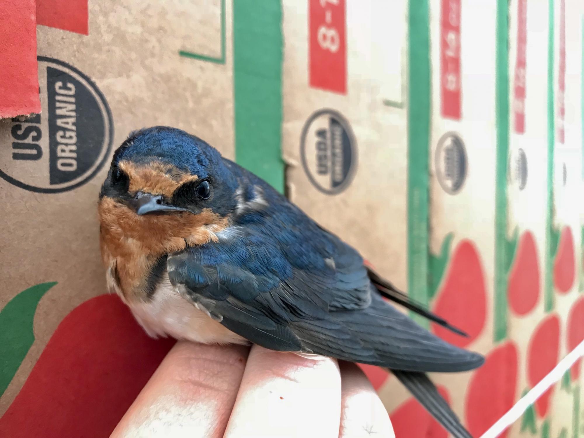
[[[442,116],[460,120],[460,0],[442,0],[441,23]]]

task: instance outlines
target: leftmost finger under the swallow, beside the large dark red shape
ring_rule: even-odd
[[[119,437],[221,437],[249,347],[177,342],[114,429]]]

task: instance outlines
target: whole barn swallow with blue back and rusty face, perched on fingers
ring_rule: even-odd
[[[131,133],[98,210],[109,290],[149,335],[385,367],[454,437],[470,437],[425,373],[472,370],[483,357],[383,297],[461,332],[200,138],[170,127]]]

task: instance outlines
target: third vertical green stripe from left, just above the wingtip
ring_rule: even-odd
[[[507,0],[497,0],[495,182],[495,342],[507,336],[507,155],[509,154],[509,18]]]

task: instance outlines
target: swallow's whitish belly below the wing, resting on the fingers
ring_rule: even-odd
[[[151,301],[127,304],[136,320],[153,338],[172,336],[201,343],[249,343],[180,296],[166,273]]]

